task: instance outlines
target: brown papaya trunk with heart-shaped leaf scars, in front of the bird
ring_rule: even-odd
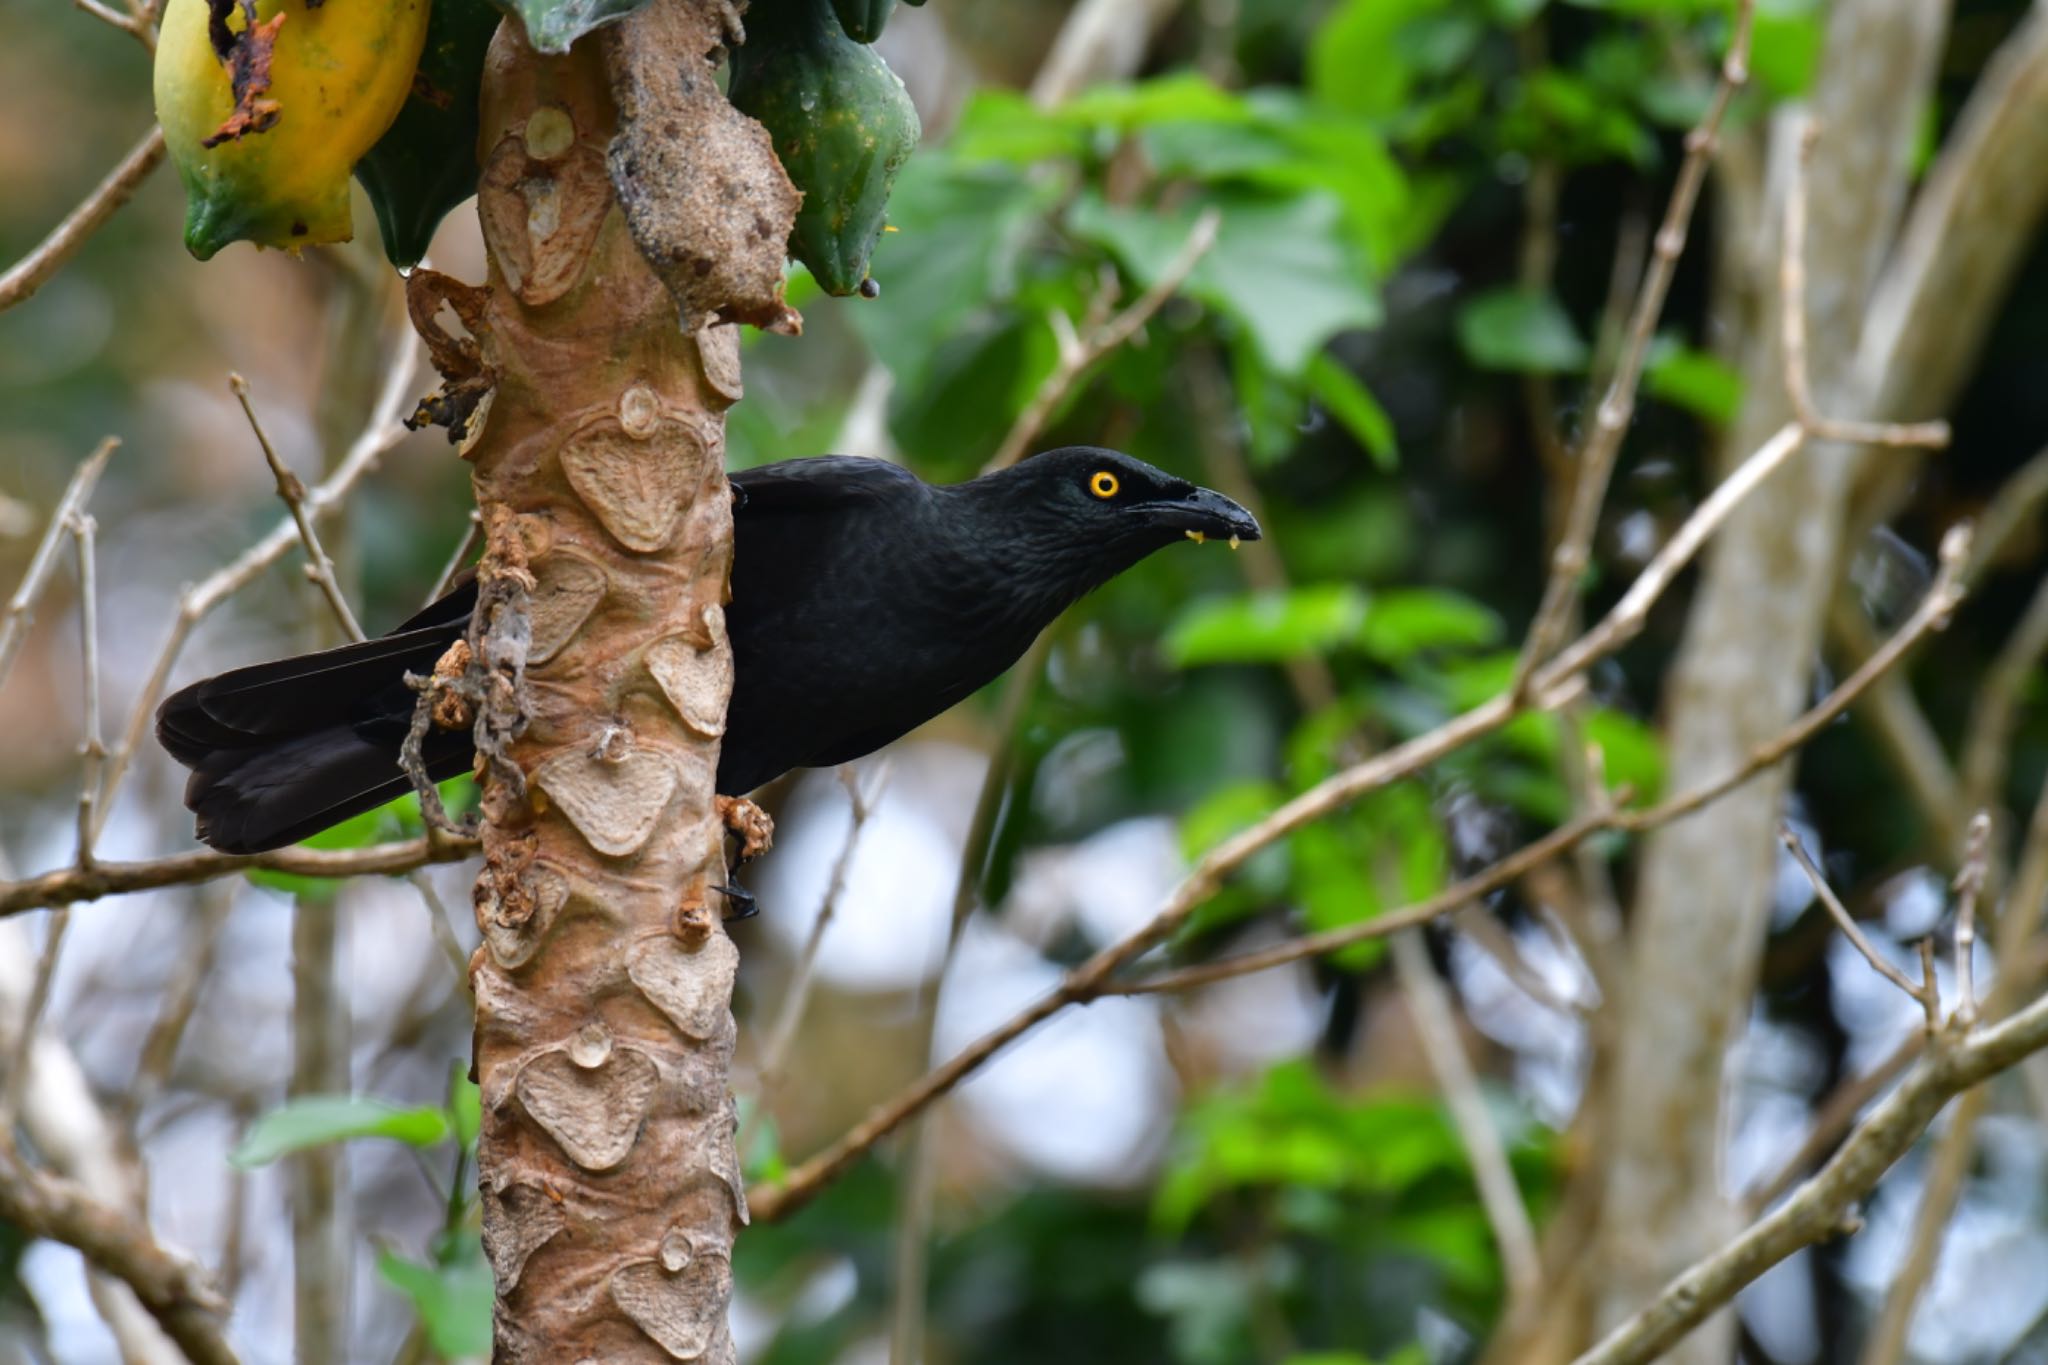
[[[690,43],[715,33],[715,6],[653,10],[684,45],[643,57],[709,86],[713,43]],[[676,117],[713,117],[692,108]],[[416,317],[446,301],[475,334],[434,338],[436,362],[487,387],[465,436],[487,528],[469,673],[487,814],[471,964],[483,1242],[498,1361],[719,1363],[745,1222],[737,954],[711,890],[739,342],[678,327],[618,213],[616,127],[598,43],[539,57],[506,23],[479,141],[489,284],[414,284]],[[672,246],[772,237],[778,266],[788,223],[760,237],[754,217],[795,196],[772,162],[745,176],[760,194],[670,215]],[[748,215],[741,231],[725,213]],[[756,252],[731,278],[758,268]]]

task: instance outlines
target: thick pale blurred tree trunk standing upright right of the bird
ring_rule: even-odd
[[[1831,12],[1812,111],[1821,139],[1810,168],[1806,299],[1812,391],[1829,411],[1841,411],[1853,391],[1866,305],[1907,194],[1919,92],[1929,88],[1946,25],[1946,4],[1927,0],[1841,0]],[[1796,135],[1776,141],[1780,158],[1796,156]],[[1782,186],[1788,176],[1772,180]],[[1769,205],[1776,213],[1782,199]],[[1780,221],[1765,227],[1767,241],[1778,241]],[[1749,399],[1726,467],[1790,415],[1776,258],[1776,248],[1757,254],[1769,272],[1763,280],[1722,282],[1769,301],[1743,348]],[[1708,553],[1665,696],[1675,790],[1739,767],[1798,714],[1841,559],[1849,473],[1841,448],[1802,452],[1743,503]],[[1755,990],[1784,790],[1780,767],[1671,825],[1645,851],[1628,995],[1614,1031],[1599,1330],[1737,1230],[1720,1173],[1722,1064]],[[1733,1318],[1722,1314],[1671,1359],[1722,1365],[1731,1355]]]

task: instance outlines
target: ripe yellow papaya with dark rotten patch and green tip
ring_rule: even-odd
[[[428,0],[170,0],[156,117],[184,180],[184,246],[346,241],[348,172],[397,119]]]

